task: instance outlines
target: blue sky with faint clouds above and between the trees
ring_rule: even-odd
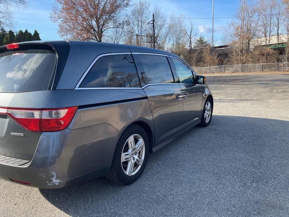
[[[27,8],[14,9],[15,31],[28,29],[33,32],[34,29],[40,33],[43,40],[62,39],[57,34],[57,24],[52,23],[49,13],[52,9],[54,0],[29,0]],[[159,6],[162,11],[170,16],[179,17],[184,15],[187,18],[210,18],[212,17],[212,0],[147,0],[154,6]],[[238,0],[214,0],[214,17],[232,17],[235,15]],[[214,20],[214,41],[215,45],[222,44],[223,34],[227,23],[231,18]],[[188,20],[184,20],[188,22]],[[205,36],[207,40],[212,38],[212,20],[211,19],[193,19],[194,26],[199,34]]]

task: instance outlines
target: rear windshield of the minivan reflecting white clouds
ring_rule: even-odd
[[[30,49],[0,53],[0,92],[47,90],[56,54]]]

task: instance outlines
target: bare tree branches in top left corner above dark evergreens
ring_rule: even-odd
[[[7,29],[13,28],[13,7],[26,7],[26,0],[0,0],[0,28]]]

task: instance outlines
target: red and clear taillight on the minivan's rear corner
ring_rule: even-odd
[[[52,132],[68,127],[77,106],[69,108],[0,108],[0,114],[7,114],[18,124],[30,131]]]

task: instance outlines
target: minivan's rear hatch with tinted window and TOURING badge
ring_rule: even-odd
[[[52,92],[57,59],[45,43],[0,47],[0,156],[32,160],[41,131],[31,120]]]

